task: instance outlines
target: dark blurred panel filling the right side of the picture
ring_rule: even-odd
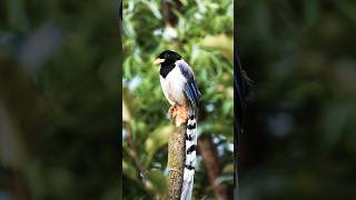
[[[238,0],[239,199],[355,199],[356,2]]]

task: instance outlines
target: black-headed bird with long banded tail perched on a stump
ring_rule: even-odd
[[[190,200],[194,186],[197,149],[197,113],[201,93],[191,67],[172,51],[162,51],[154,64],[160,66],[160,86],[171,107],[168,114],[176,126],[187,122],[184,182],[180,200]]]

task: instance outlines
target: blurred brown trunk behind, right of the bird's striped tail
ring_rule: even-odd
[[[209,183],[212,187],[214,194],[219,200],[229,199],[228,187],[226,184],[215,184],[215,180],[221,176],[221,168],[218,160],[218,153],[210,134],[199,137],[199,152],[204,166],[209,177]]]

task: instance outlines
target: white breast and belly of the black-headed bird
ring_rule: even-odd
[[[186,104],[186,96],[184,93],[186,81],[178,67],[174,68],[166,78],[160,76],[160,86],[170,104],[175,102],[180,106]]]

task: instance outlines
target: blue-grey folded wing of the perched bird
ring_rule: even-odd
[[[184,60],[178,60],[176,64],[179,67],[181,74],[187,79],[187,82],[184,87],[184,92],[189,99],[191,107],[198,108],[201,93],[198,90],[195,76],[190,66]]]

